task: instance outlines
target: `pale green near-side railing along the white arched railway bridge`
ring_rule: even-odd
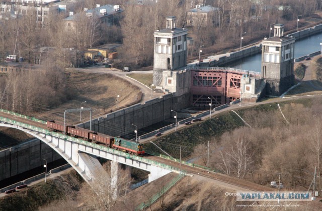
[[[156,165],[156,166],[168,169],[168,170],[177,171],[177,172],[180,171],[180,169],[178,169],[176,167],[173,167],[173,166],[170,166],[170,165],[167,165],[167,164],[156,162],[154,160],[150,160],[150,159],[147,159],[147,158],[144,158],[144,157],[132,155],[132,154],[129,154],[129,153],[126,153],[126,152],[123,152],[123,151],[112,149],[110,147],[106,147],[106,146],[103,146],[103,145],[92,143],[92,142],[89,142],[89,141],[86,141],[86,140],[83,140],[83,139],[78,139],[78,138],[70,137],[68,135],[64,135],[64,134],[61,134],[61,133],[52,132],[52,131],[49,131],[47,129],[43,129],[43,128],[32,126],[32,125],[29,125],[29,124],[26,124],[26,123],[18,122],[18,121],[11,120],[11,119],[8,119],[8,118],[5,118],[5,117],[0,117],[0,120],[2,120],[4,122],[7,122],[7,123],[14,124],[14,125],[18,125],[18,126],[21,126],[21,127],[24,127],[24,128],[28,128],[28,129],[35,130],[35,131],[38,131],[38,132],[42,132],[42,133],[45,133],[47,135],[53,135],[53,136],[59,137],[61,139],[65,139],[65,140],[69,140],[69,141],[73,141],[73,142],[78,142],[78,143],[81,143],[81,144],[84,144],[84,145],[87,145],[87,146],[91,146],[93,148],[108,151],[108,152],[111,152],[113,154],[118,154],[118,155],[121,155],[121,156],[124,156],[124,157],[132,158],[132,159],[139,160],[139,161],[143,161],[145,163]],[[186,174],[186,172],[182,171],[182,174]]]

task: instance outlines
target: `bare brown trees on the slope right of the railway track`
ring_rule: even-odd
[[[225,132],[220,138],[195,148],[203,165],[227,175],[269,184],[281,182],[288,189],[309,188],[316,167],[315,190],[321,189],[321,98],[289,103],[278,109],[239,111],[251,125]],[[271,105],[276,106],[276,104]],[[209,163],[208,163],[209,162]],[[311,186],[312,189],[313,186]]]

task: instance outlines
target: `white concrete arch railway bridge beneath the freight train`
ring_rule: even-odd
[[[96,157],[111,160],[114,175],[117,175],[115,173],[117,163],[149,171],[149,182],[173,171],[179,173],[177,167],[49,131],[46,123],[36,118],[0,110],[0,126],[22,130],[40,139],[63,157],[89,183],[94,181],[98,174],[105,172]],[[1,170],[6,171],[4,168]]]

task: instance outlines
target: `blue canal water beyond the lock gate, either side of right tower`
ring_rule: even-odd
[[[295,59],[321,50],[322,33],[313,35],[303,40],[295,40]],[[262,54],[256,54],[243,60],[230,63],[225,67],[261,72]]]

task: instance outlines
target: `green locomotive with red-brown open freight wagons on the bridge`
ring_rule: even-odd
[[[91,141],[93,143],[104,144],[107,147],[114,148],[117,150],[121,150],[127,153],[135,154],[135,155],[143,155],[143,144],[129,141],[123,139],[121,137],[112,137],[109,135],[105,135],[102,133],[98,133],[92,130],[88,130],[82,127],[65,125],[61,122],[57,122],[55,120],[47,121],[47,127],[51,131],[55,132],[64,132],[65,135],[73,136],[76,138],[83,138],[87,141]]]

